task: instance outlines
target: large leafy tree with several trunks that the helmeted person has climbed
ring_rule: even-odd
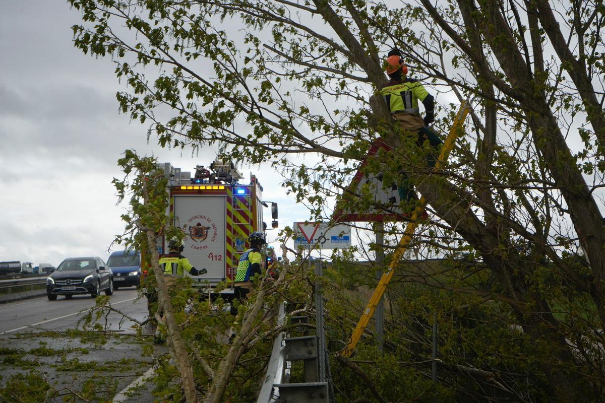
[[[471,250],[490,273],[489,287],[457,291],[500,301],[529,340],[549,346],[540,362],[549,396],[601,396],[602,1],[69,3],[84,21],[73,28],[76,47],[113,58],[128,85],[117,94],[122,112],[160,145],[214,144],[237,160],[271,161],[318,217],[383,137],[392,150],[368,169],[391,182],[408,172],[434,213],[420,239]],[[454,104],[474,100],[439,175],[373,96],[393,45],[439,93],[436,129],[447,132]]]

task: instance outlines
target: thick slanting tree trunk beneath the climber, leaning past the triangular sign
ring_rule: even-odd
[[[370,105],[379,124],[392,124],[393,120],[378,95],[371,98]],[[387,144],[394,149],[402,149],[393,132],[386,137]],[[470,208],[473,205],[473,196],[461,192],[438,176],[411,174],[410,178],[417,184],[416,189],[425,197],[427,204],[436,210],[437,215],[482,254],[483,260],[494,272],[505,294],[511,300],[518,301],[512,304],[512,308],[523,329],[537,340],[551,343],[555,361],[574,365],[574,356],[565,338],[558,331],[557,321],[552,316],[548,304],[539,295],[529,292],[525,286],[522,277],[524,272],[518,270],[524,266],[522,259],[515,253],[508,240],[500,239],[498,234],[489,231],[473,213]],[[506,257],[498,253],[502,248],[508,251]],[[531,306],[540,309],[532,309]],[[566,401],[585,401],[583,382],[572,378],[569,373],[561,371],[549,361],[545,359],[542,366],[556,395]]]

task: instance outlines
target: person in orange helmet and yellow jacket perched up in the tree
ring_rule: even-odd
[[[418,135],[416,144],[419,147],[429,141],[434,150],[442,143],[439,137],[428,129],[428,125],[435,120],[434,98],[424,88],[422,83],[415,79],[408,79],[408,66],[405,65],[401,51],[393,49],[387,57],[387,74],[391,79],[381,88],[381,95],[387,103],[388,111],[402,129]],[[418,101],[422,102],[425,109],[424,119],[420,117]],[[434,167],[436,153],[430,152],[427,156],[427,166]],[[407,175],[397,189],[402,201],[417,199],[413,185],[410,184]]]

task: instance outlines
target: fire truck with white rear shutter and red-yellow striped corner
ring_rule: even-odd
[[[201,276],[193,276],[194,285],[211,285],[235,279],[240,256],[253,231],[265,233],[263,209],[271,209],[271,227],[277,228],[277,204],[263,201],[263,186],[250,174],[247,183],[235,165],[214,161],[208,167],[198,165],[195,172],[183,172],[170,163],[157,164],[168,178],[168,213],[174,227],[185,234],[183,256]],[[160,254],[168,253],[169,239],[157,238]]]

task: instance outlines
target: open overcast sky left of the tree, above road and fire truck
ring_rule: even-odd
[[[115,93],[124,88],[111,61],[73,47],[78,23],[65,0],[0,0],[0,261],[106,259],[123,230],[111,180],[125,149],[191,171],[214,159],[147,144],[148,127],[118,113]],[[240,170],[257,174],[264,199],[280,204],[280,228],[308,218],[269,167]]]

